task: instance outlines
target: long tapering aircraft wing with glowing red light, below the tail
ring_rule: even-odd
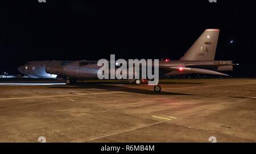
[[[200,68],[186,68],[186,67],[162,67],[159,69],[169,70],[169,71],[177,71],[177,72],[186,72],[186,73],[199,73],[199,74],[212,74],[212,75],[221,75],[221,76],[229,76],[228,74],[216,72],[208,69],[200,69]]]

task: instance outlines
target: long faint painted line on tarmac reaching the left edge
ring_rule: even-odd
[[[77,95],[101,95],[101,94],[116,94],[116,93],[127,93],[125,91],[112,91],[112,92],[103,92],[103,93],[82,93],[82,94],[67,94],[67,95],[44,95],[44,96],[34,96],[34,97],[13,97],[13,98],[0,98],[0,101],[5,100],[15,100],[15,99],[34,99],[34,98],[52,98],[52,97],[69,97]]]

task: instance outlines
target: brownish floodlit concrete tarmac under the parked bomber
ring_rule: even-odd
[[[256,141],[255,79],[0,83],[0,142]]]

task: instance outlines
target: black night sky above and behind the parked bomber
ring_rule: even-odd
[[[216,60],[256,76],[256,1],[1,1],[0,74],[34,60],[179,60],[206,28],[220,28]],[[230,43],[230,41],[232,41]]]

